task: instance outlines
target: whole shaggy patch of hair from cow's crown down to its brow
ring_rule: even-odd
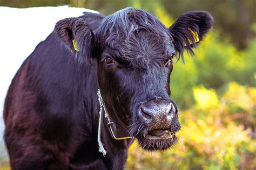
[[[171,33],[163,23],[150,13],[131,7],[107,16],[96,37],[101,45],[116,49],[125,59],[137,63],[138,60],[149,59],[147,53],[153,59],[172,47]],[[154,61],[157,62],[157,59]]]

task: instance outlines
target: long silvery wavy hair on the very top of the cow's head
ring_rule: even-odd
[[[140,30],[150,31],[155,34],[165,31],[169,34],[166,26],[150,13],[141,9],[127,7],[105,18],[100,29],[100,37],[115,35],[116,39],[127,40]]]

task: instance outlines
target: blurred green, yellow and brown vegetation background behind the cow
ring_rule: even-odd
[[[60,5],[104,15],[133,6],[167,27],[184,12],[209,11],[214,28],[196,56],[174,62],[171,75],[171,98],[180,109],[179,143],[150,153],[134,143],[126,169],[256,169],[255,0],[0,0],[0,6],[15,8]]]

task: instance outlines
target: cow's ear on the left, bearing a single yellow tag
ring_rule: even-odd
[[[79,60],[92,58],[95,38],[91,27],[82,18],[62,19],[55,25],[55,32],[66,48]]]

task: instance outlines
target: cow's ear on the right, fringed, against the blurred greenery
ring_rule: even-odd
[[[181,15],[169,28],[176,51],[182,56],[184,49],[194,54],[193,48],[203,40],[213,25],[213,18],[206,11],[190,11]]]

